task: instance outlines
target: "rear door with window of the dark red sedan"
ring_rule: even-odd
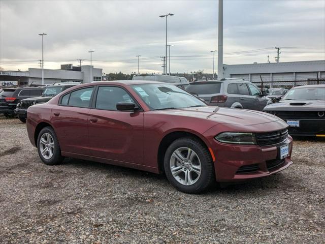
[[[51,123],[62,151],[90,155],[88,112],[93,92],[94,86],[73,90],[62,96],[59,104],[52,108]]]

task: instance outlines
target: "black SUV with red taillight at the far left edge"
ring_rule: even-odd
[[[16,105],[20,100],[41,96],[45,87],[21,86],[2,89],[0,93],[0,113],[3,113],[6,117],[13,117]]]

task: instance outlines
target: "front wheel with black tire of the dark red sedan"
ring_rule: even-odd
[[[182,157],[179,157],[179,153]],[[189,154],[190,157],[188,157]],[[181,192],[198,194],[207,190],[215,182],[210,152],[202,142],[195,138],[184,137],[175,140],[166,150],[164,168],[172,186]]]

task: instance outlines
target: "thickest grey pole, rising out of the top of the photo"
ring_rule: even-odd
[[[219,0],[218,7],[218,79],[222,79],[223,75],[223,0]]]

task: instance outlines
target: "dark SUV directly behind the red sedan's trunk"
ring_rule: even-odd
[[[63,90],[66,90],[75,85],[76,84],[70,83],[70,84],[59,84],[59,85],[47,86],[42,94],[42,97],[38,96],[38,97],[26,98],[24,100],[21,100],[20,103],[17,104],[15,113],[18,115],[20,121],[26,123],[28,107],[39,103],[46,103],[50,101],[53,97],[58,95],[59,93],[63,92]]]

